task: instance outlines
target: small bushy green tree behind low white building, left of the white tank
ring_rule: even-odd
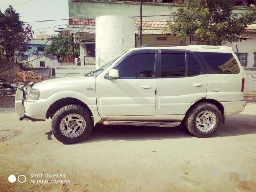
[[[45,53],[56,55],[59,61],[72,62],[72,39],[60,35],[54,37],[52,43],[46,47]],[[79,56],[79,44],[74,44],[74,57]]]

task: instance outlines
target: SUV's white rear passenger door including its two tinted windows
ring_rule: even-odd
[[[207,74],[194,52],[160,50],[156,115],[184,115],[189,105],[206,97]]]

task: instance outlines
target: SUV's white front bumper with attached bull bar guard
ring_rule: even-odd
[[[46,99],[29,100],[27,97],[24,87],[19,86],[15,96],[15,110],[20,120],[46,120],[46,112],[50,106]]]

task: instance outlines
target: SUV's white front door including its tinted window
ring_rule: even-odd
[[[153,49],[133,51],[115,65],[118,79],[96,79],[100,116],[155,114],[156,56],[157,50]]]

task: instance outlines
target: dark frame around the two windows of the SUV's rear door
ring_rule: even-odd
[[[180,53],[180,52],[184,52],[185,53],[185,62],[186,62],[186,66],[185,66],[185,76],[170,76],[170,77],[161,77],[161,53]],[[197,75],[187,75],[187,70],[188,70],[188,60],[187,60],[187,53],[191,53],[193,54],[194,58],[197,60],[198,65],[201,67],[201,73],[197,74]],[[159,79],[166,79],[166,78],[186,78],[186,77],[195,77],[198,75],[202,75],[202,74],[207,74],[206,72],[206,68],[203,65],[202,61],[198,58],[197,54],[195,54],[193,51],[190,50],[184,50],[184,49],[173,49],[173,50],[167,50],[167,49],[160,49],[159,50],[159,61],[158,61],[158,76],[157,78]]]

